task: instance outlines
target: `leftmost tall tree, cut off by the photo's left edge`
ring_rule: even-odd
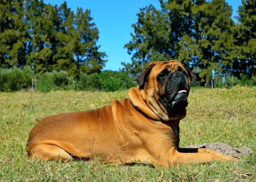
[[[0,1],[0,67],[20,67],[26,64],[26,24],[24,3],[19,0]]]

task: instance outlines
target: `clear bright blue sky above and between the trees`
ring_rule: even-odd
[[[127,53],[124,45],[132,38],[132,24],[136,23],[140,8],[150,4],[160,9],[158,0],[66,0],[72,11],[78,7],[91,10],[91,17],[99,30],[97,46],[99,51],[105,51],[108,62],[103,70],[118,71],[123,68],[121,62],[131,63],[131,55]],[[64,0],[44,0],[46,4],[61,5]],[[241,0],[226,0],[233,8],[233,16],[237,16],[238,6]],[[237,22],[234,18],[233,20]]]

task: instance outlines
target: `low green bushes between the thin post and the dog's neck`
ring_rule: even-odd
[[[65,71],[45,72],[39,78],[37,90],[49,92],[51,90],[103,90],[117,91],[136,86],[134,79],[124,71],[103,71],[87,74],[80,72],[79,79],[68,77]]]

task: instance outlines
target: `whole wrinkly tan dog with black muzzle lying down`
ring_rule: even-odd
[[[137,77],[139,86],[129,90],[129,99],[42,119],[30,132],[29,157],[100,157],[114,164],[140,161],[163,167],[235,161],[210,149],[179,148],[179,122],[186,116],[190,80],[196,76],[175,60],[150,63]]]

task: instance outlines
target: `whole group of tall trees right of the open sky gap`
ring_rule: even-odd
[[[125,44],[132,63],[122,63],[135,77],[150,62],[176,59],[204,85],[217,76],[241,80],[256,74],[256,0],[242,0],[238,23],[225,0],[159,0],[140,9]],[[234,80],[234,79],[233,79]]]

